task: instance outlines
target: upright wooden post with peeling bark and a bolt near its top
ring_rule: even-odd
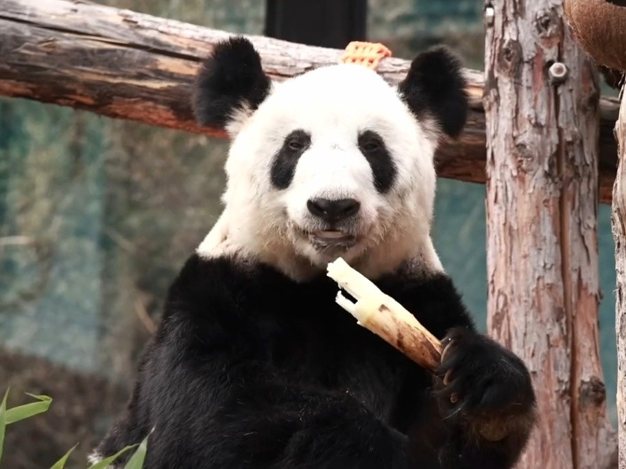
[[[612,467],[597,325],[597,71],[560,0],[486,8],[487,322],[529,366],[540,416],[520,467]],[[554,62],[567,67],[562,80]]]

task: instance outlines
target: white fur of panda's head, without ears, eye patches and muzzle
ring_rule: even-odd
[[[311,146],[300,157],[290,186],[270,181],[274,155],[287,134],[303,129]],[[380,194],[357,147],[360,131],[376,131],[396,164],[392,188]],[[407,259],[416,268],[440,271],[430,238],[437,134],[418,122],[407,105],[373,71],[356,64],[317,68],[274,84],[256,112],[242,110],[228,127],[233,141],[226,162],[223,214],[200,244],[204,257],[236,255],[276,266],[306,279],[341,255],[368,277],[394,270]],[[361,203],[347,251],[320,251],[301,229],[315,220],[306,201],[351,197]]]

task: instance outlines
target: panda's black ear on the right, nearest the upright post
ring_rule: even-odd
[[[457,56],[446,47],[436,47],[413,59],[398,92],[416,117],[430,114],[445,134],[457,137],[468,114],[465,87]]]

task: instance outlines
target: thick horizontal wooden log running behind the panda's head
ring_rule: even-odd
[[[189,95],[200,61],[224,31],[129,10],[67,0],[0,0],[0,94],[67,105],[114,118],[224,137],[198,127]],[[335,64],[342,51],[249,36],[263,68],[282,80]],[[402,79],[409,61],[387,58],[379,73]],[[437,173],[485,182],[482,73],[466,70],[471,110],[466,131],[437,152]],[[609,203],[616,168],[615,99],[601,99],[599,194]]]

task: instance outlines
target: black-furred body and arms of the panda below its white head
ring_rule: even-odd
[[[510,468],[534,402],[524,365],[474,330],[448,277],[376,283],[453,340],[434,379],[335,305],[325,275],[193,255],[99,453],[154,428],[145,469]],[[481,438],[490,419],[509,435]]]

